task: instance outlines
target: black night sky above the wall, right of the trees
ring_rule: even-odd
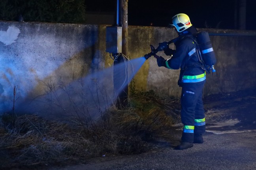
[[[128,25],[167,26],[186,13],[197,28],[236,29],[236,0],[128,0]],[[239,0],[237,0],[239,2]],[[87,11],[116,12],[116,0],[86,2]],[[256,30],[256,0],[247,0],[247,30]]]

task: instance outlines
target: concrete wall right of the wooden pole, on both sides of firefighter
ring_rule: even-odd
[[[204,95],[234,92],[256,86],[256,32],[239,30],[198,29],[222,36],[210,36],[217,58],[216,73],[207,75]],[[149,45],[158,46],[159,42],[169,41],[177,34],[168,28],[129,27],[129,54],[143,56],[150,52]],[[233,36],[225,34],[234,33]],[[243,36],[238,36],[243,35]],[[253,35],[253,36],[248,36]],[[175,49],[173,44],[170,48]],[[168,56],[158,53],[164,58]],[[136,75],[138,89],[154,89],[160,95],[179,95],[181,88],[177,86],[179,70],[158,67],[156,60],[151,57]],[[146,79],[146,80],[144,80]]]

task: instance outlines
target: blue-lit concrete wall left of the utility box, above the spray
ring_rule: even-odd
[[[105,67],[100,43],[105,28],[96,25],[0,22],[0,112],[18,99],[45,93],[40,84],[64,82]]]

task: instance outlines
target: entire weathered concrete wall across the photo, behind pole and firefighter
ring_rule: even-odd
[[[131,60],[150,52],[150,44],[157,47],[158,43],[177,37],[168,28],[143,26],[129,26],[128,35],[127,57]],[[205,95],[255,87],[255,36],[211,36],[211,40],[217,72],[207,75]],[[42,82],[68,84],[111,67],[113,60],[105,52],[105,25],[0,22],[0,63],[0,112],[5,112],[13,106],[15,85],[16,102],[23,103],[45,93]],[[178,77],[179,70],[158,67],[151,57],[139,69],[134,84],[138,90],[179,95]]]

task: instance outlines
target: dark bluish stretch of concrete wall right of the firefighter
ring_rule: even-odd
[[[256,32],[208,30],[215,33],[254,36],[211,36],[217,63],[216,74],[208,75],[205,94],[235,92],[256,87]]]

